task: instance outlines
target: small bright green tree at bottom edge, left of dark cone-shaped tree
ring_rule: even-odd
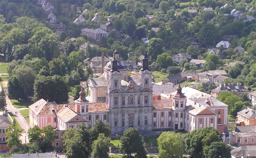
[[[91,158],[108,158],[110,140],[103,133],[100,133],[97,140],[92,142]]]

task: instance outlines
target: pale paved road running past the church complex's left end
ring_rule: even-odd
[[[0,90],[2,90],[2,87],[0,87]],[[28,130],[31,128],[31,126],[26,122],[24,117],[21,115],[20,110],[28,109],[28,108],[14,108],[13,104],[11,103],[11,100],[6,95],[6,103],[7,103],[7,111],[13,113],[15,116],[16,121],[21,125],[21,128],[24,129],[24,133],[20,137],[23,144],[28,142]],[[18,112],[15,114],[15,112]]]

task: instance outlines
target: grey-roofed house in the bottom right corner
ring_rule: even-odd
[[[244,145],[231,150],[231,158],[256,158],[256,145]]]

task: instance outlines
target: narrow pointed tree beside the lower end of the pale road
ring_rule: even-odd
[[[7,129],[5,129],[5,137],[8,147],[18,147],[21,145],[21,140],[19,139],[23,133],[24,129],[19,129],[17,126],[16,119],[13,120]]]

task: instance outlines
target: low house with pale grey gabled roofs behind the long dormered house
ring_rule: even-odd
[[[209,79],[214,83],[222,83],[227,77],[227,72],[225,70],[212,70],[212,71],[204,71],[198,73],[199,81],[202,79]]]

